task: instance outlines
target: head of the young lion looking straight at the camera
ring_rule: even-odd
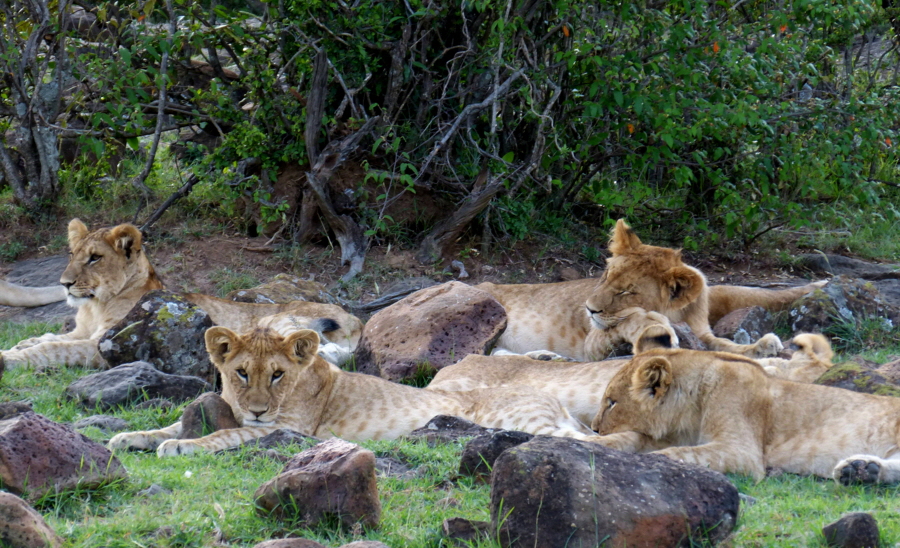
[[[301,329],[287,336],[260,328],[237,334],[227,327],[206,331],[206,349],[222,375],[222,398],[244,426],[319,420],[315,400],[327,399],[330,365],[317,354],[319,335]],[[320,402],[324,405],[324,402]]]

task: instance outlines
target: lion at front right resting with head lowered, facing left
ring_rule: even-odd
[[[725,352],[654,349],[610,381],[594,441],[760,480],[900,481],[900,399],[767,375]]]

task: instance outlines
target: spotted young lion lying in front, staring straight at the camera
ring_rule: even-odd
[[[436,415],[456,415],[490,428],[589,439],[594,436],[558,401],[527,387],[442,392],[350,373],[317,354],[319,335],[300,330],[283,336],[257,328],[237,334],[206,331],[206,347],[222,376],[222,398],[239,428],[199,439],[177,439],[181,423],[126,432],[109,448],[156,449],[160,457],[220,451],[289,428],[317,438],[395,439]]]

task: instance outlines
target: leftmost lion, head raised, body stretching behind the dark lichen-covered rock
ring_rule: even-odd
[[[47,333],[21,341],[0,353],[0,365],[31,364],[38,368],[55,363],[105,367],[97,344],[149,291],[162,289],[142,246],[140,230],[130,224],[89,232],[79,219],[68,227],[69,264],[60,277],[70,306],[78,309],[75,329]],[[339,306],[294,301],[286,304],[238,303],[200,293],[183,297],[206,312],[216,325],[238,330],[260,321],[281,332],[316,328],[330,343],[352,350],[359,342],[362,322]],[[346,355],[346,352],[332,352]]]

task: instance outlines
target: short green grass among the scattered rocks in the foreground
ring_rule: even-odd
[[[56,327],[0,323],[0,348]],[[81,409],[62,396],[69,383],[88,373],[77,367],[60,367],[41,376],[29,369],[10,370],[0,380],[0,401],[27,400],[35,411],[52,420],[74,422],[101,412]],[[149,429],[178,420],[182,409],[124,407],[107,413],[125,419],[132,429]],[[84,433],[105,442],[98,429],[86,429]],[[217,539],[234,547],[251,547],[288,535],[326,546],[368,539],[392,548],[439,547],[449,546],[440,538],[443,520],[490,519],[489,487],[456,477],[462,443],[429,447],[422,442],[382,441],[361,445],[379,457],[392,457],[417,471],[417,477],[411,479],[378,478],[382,520],[377,530],[350,531],[336,524],[307,529],[300,523],[258,515],[253,494],[281,470],[282,464],[246,448],[168,459],[158,459],[151,453],[120,453],[118,457],[129,472],[126,481],[48,496],[36,506],[71,547],[199,548],[211,546]],[[277,453],[287,457],[299,450],[288,447]],[[825,546],[822,527],[855,511],[875,516],[884,545],[900,543],[900,514],[896,513],[900,487],[844,488],[832,481],[791,474],[758,483],[741,476],[731,479],[742,493],[756,499],[752,506],[742,504],[731,546]],[[151,485],[164,491],[152,496],[141,494]],[[496,548],[498,544],[483,540],[472,546]]]

